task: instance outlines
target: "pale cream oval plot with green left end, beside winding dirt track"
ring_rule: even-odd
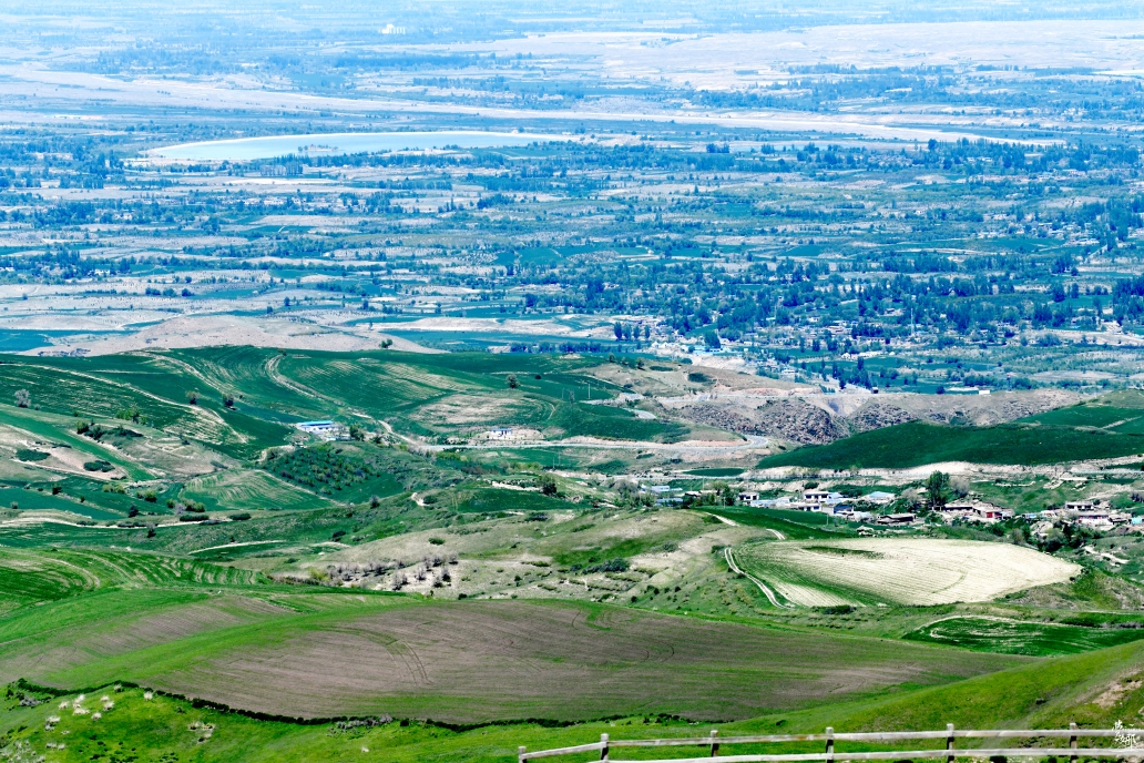
[[[764,542],[737,549],[736,557],[803,606],[986,602],[1079,571],[1018,546],[925,538]]]

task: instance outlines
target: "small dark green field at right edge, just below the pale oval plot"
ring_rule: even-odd
[[[1144,638],[1144,629],[1083,628],[1000,618],[961,617],[931,622],[907,634],[906,638],[982,652],[1055,657],[1139,641]]]

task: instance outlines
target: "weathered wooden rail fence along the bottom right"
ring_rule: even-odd
[[[804,763],[824,761],[905,761],[916,758],[945,758],[945,763],[954,763],[959,757],[988,758],[995,755],[1012,757],[1067,757],[1070,763],[1077,763],[1080,757],[1097,758],[1144,758],[1144,740],[1136,737],[1136,729],[1078,729],[1077,724],[1070,724],[1068,729],[1034,729],[1026,731],[1018,730],[992,730],[992,731],[960,731],[953,724],[946,726],[945,731],[890,731],[872,733],[834,733],[834,729],[827,729],[820,734],[769,734],[762,737],[720,737],[718,730],[713,730],[707,737],[692,737],[681,739],[610,739],[607,734],[601,734],[599,741],[588,745],[577,745],[575,747],[561,747],[557,749],[542,749],[530,753],[521,747],[518,763],[535,760],[539,757],[555,757],[558,755],[575,755],[578,753],[599,753],[599,760],[621,763],[622,758],[611,757],[612,750],[623,747],[706,747],[706,754],[692,757],[673,757],[642,760],[638,763],[707,763],[712,757],[720,757],[722,763]],[[1144,733],[1144,732],[1139,732]],[[935,740],[944,741],[944,748],[932,749],[895,749],[879,752],[840,752],[834,749],[835,742],[901,742],[911,740]],[[1041,740],[1060,739],[1060,747],[969,747],[959,748],[955,744],[958,739],[1035,739]],[[1115,747],[1080,747],[1081,739],[1114,739]],[[1067,740],[1068,746],[1063,746]],[[825,749],[821,753],[794,753],[765,755],[720,755],[721,749],[730,745],[780,745],[784,742],[821,742]],[[725,750],[724,750],[725,753]],[[629,763],[637,763],[630,761]]]

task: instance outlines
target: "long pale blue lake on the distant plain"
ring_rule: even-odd
[[[269,135],[229,141],[182,143],[151,149],[149,154],[164,159],[202,161],[249,161],[291,153],[307,156],[378,153],[383,151],[423,151],[455,146],[493,149],[527,145],[535,142],[570,141],[572,136],[532,133],[484,133],[479,130],[435,130],[426,133],[315,133],[309,135]]]

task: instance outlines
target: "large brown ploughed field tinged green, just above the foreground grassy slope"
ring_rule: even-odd
[[[760,659],[760,655],[766,659]],[[858,659],[860,657],[860,659]],[[291,716],[389,713],[454,723],[636,713],[746,718],[903,683],[937,684],[1015,663],[579,605],[459,602],[394,607],[280,634],[152,685]],[[141,674],[149,674],[141,666]]]

